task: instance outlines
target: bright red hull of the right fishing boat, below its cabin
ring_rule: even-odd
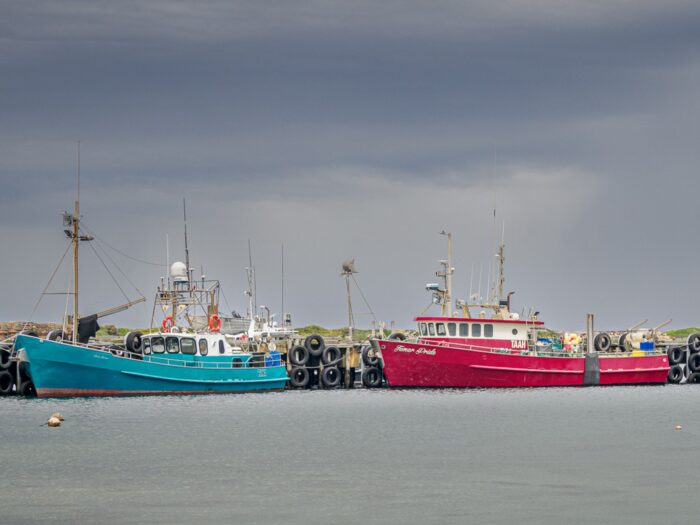
[[[542,387],[583,386],[586,359],[542,357],[473,349],[464,345],[376,341],[390,386],[413,387]],[[666,383],[665,354],[600,356],[600,385]],[[589,383],[590,384],[590,383]]]

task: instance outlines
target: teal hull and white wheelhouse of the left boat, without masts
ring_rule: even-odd
[[[287,382],[278,353],[243,352],[218,333],[155,333],[129,343],[20,334],[15,349],[39,397],[262,392],[282,390]]]

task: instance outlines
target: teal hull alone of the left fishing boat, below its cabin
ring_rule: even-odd
[[[234,368],[220,356],[114,355],[110,351],[19,335],[39,397],[228,394],[282,390],[284,366]]]

